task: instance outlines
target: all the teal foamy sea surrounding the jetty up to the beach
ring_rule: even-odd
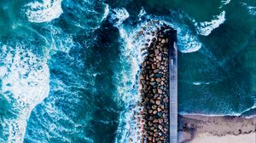
[[[135,37],[163,23],[179,113],[255,112],[254,0],[1,0],[0,142],[128,142],[150,38]]]

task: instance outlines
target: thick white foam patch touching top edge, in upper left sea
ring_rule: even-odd
[[[26,7],[28,7],[26,10],[28,20],[42,23],[59,18],[63,13],[61,1],[62,0],[43,0],[42,3],[36,1],[26,4]]]

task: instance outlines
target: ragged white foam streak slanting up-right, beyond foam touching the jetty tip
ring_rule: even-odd
[[[211,21],[204,21],[204,22],[194,22],[196,31],[198,34],[203,36],[208,36],[211,34],[212,30],[218,28],[221,24],[225,21],[225,11],[221,12],[219,15],[213,16],[213,20]]]

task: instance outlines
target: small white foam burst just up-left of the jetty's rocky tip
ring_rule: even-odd
[[[110,22],[113,23],[113,26],[119,26],[129,18],[130,14],[125,8],[116,8],[111,10]]]

